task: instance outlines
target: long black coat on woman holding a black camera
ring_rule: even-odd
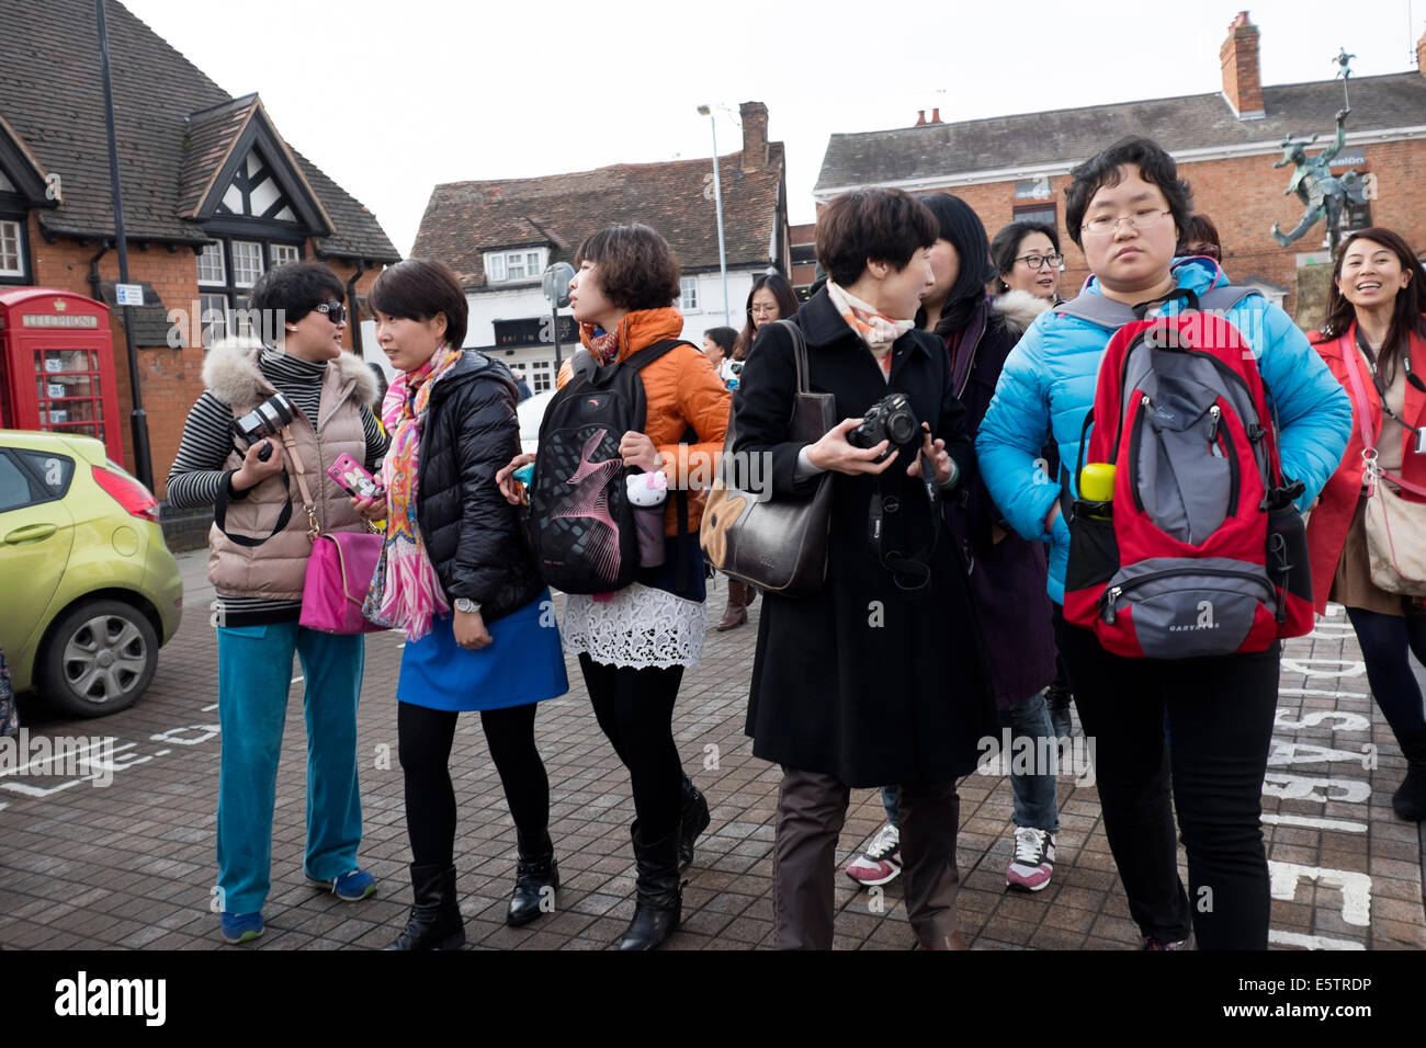
[[[836,396],[838,419],[904,392],[945,441],[961,476],[974,475],[965,409],[940,339],[914,331],[897,339],[887,382],[826,292],[793,322],[807,339],[810,385]],[[791,338],[769,325],[743,368],[733,411],[734,451],[771,456],[774,499],[816,483],[794,481],[801,445],[786,439],[796,386]],[[944,781],[973,770],[978,740],[997,733],[963,562],[907,465],[900,455],[880,476],[833,473],[823,590],[767,595],[747,711],[756,756],[848,786]],[[867,540],[873,498],[896,500],[884,516],[883,549],[914,555],[937,536],[931,585],[918,596],[896,586]]]

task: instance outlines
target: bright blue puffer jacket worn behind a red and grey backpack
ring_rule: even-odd
[[[1181,288],[1195,294],[1229,282],[1205,258],[1175,262],[1174,275]],[[1084,294],[1101,294],[1098,281],[1091,278]],[[1165,311],[1176,309],[1174,302]],[[1342,461],[1352,429],[1352,404],[1282,309],[1251,295],[1228,311],[1228,319],[1258,356],[1269,401],[1276,404],[1282,423],[1282,469],[1305,485],[1298,500],[1305,509]],[[1099,359],[1114,331],[1054,309],[1042,314],[1005,361],[975,441],[981,476],[1005,520],[1027,539],[1050,542],[1047,589],[1057,603],[1064,603],[1070,528],[1061,515],[1055,518],[1054,535],[1045,533],[1045,515],[1060,495],[1060,479],[1047,476],[1040,455],[1054,436],[1060,461],[1074,472],[1079,429],[1094,405]]]

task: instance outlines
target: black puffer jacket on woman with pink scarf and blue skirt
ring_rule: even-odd
[[[421,540],[446,597],[481,602],[488,623],[545,589],[519,510],[495,485],[496,471],[520,452],[515,398],[509,368],[466,351],[431,391],[421,431]]]

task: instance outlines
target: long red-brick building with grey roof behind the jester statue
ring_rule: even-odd
[[[1258,285],[1295,312],[1299,279],[1309,288],[1326,285],[1320,269],[1312,268],[1326,261],[1323,227],[1318,224],[1298,242],[1278,247],[1269,232],[1272,224],[1293,228],[1302,202],[1283,195],[1292,168],[1275,171],[1272,164],[1282,158],[1288,135],[1320,134],[1309,153],[1332,143],[1342,83],[1265,87],[1258,43],[1258,27],[1246,11],[1241,13],[1219,53],[1222,93],[960,123],[941,123],[940,113],[930,118],[923,113],[914,127],[834,134],[814,197],[820,207],[838,192],[866,185],[954,192],[975,208],[991,235],[1015,218],[1051,221],[1065,250],[1060,291],[1071,297],[1088,271],[1084,255],[1065,235],[1070,168],[1125,135],[1148,135],[1174,154],[1181,177],[1192,184],[1196,210],[1218,225],[1228,275]],[[1416,71],[1352,77],[1346,145],[1333,164],[1338,173],[1355,167],[1376,177],[1378,198],[1356,208],[1350,225],[1390,227],[1417,250],[1426,250],[1423,54],[1426,36],[1417,44]],[[1162,83],[1171,81],[1165,77]]]

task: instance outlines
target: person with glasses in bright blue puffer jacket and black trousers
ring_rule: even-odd
[[[1010,525],[1051,546],[1058,649],[1085,736],[1095,740],[1104,826],[1141,948],[1184,950],[1192,931],[1202,950],[1265,950],[1262,783],[1281,643],[1249,654],[1127,659],[1092,630],[1067,623],[1070,526],[1061,486],[1045,482],[1041,458],[1051,435],[1061,462],[1078,459],[1104,348],[1137,319],[1135,305],[1159,302],[1161,314],[1174,315],[1228,279],[1208,260],[1175,262],[1191,197],[1156,143],[1125,138],[1079,164],[1065,197],[1071,238],[1091,271],[1082,295],[1095,301],[1044,314],[1011,351],[977,439],[981,475]],[[1282,309],[1248,295],[1225,317],[1252,345],[1282,425],[1282,469],[1302,482],[1305,509],[1342,459],[1350,405]],[[1074,496],[1078,478],[1067,483]],[[1188,893],[1178,875],[1175,811]]]

